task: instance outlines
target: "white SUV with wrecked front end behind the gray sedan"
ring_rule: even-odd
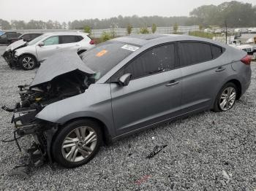
[[[7,49],[3,57],[10,67],[21,66],[24,70],[31,70],[56,52],[69,50],[80,54],[94,46],[94,40],[86,33],[48,33],[31,42],[11,44],[12,48]]]

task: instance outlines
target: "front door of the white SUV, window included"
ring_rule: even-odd
[[[44,61],[56,52],[60,52],[59,36],[50,36],[44,41],[44,46],[37,45],[38,61]]]

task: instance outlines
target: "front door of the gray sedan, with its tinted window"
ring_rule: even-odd
[[[118,135],[176,116],[181,106],[181,69],[175,44],[141,53],[111,78],[113,120]],[[116,82],[132,74],[129,85]]]

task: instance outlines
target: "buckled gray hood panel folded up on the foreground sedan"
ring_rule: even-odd
[[[76,52],[59,52],[41,63],[36,76],[29,88],[50,82],[55,77],[72,71],[81,71],[85,74],[95,74],[81,60]]]

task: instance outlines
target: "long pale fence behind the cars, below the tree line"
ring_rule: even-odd
[[[58,32],[58,31],[83,31],[83,30],[68,30],[68,29],[26,29],[26,30],[8,30],[8,31],[17,31],[20,33],[33,33],[33,32],[42,32],[42,33],[48,33],[48,32]],[[151,28],[148,28],[148,31],[151,31]],[[179,33],[182,34],[188,34],[189,31],[199,31],[199,26],[178,26]],[[126,28],[107,28],[107,29],[94,29],[91,31],[91,36],[94,36],[95,38],[99,38],[103,32],[113,33],[116,34],[116,36],[125,36],[127,35],[127,29]],[[140,32],[140,28],[132,28],[132,34],[138,34]],[[173,34],[173,27],[157,27],[157,34]]]

